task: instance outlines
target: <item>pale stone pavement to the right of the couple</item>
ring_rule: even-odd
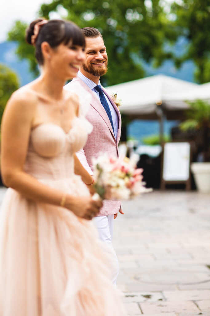
[[[210,316],[210,194],[154,191],[122,208],[113,246],[128,315]]]

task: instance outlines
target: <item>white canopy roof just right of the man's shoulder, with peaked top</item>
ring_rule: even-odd
[[[151,113],[155,113],[156,108],[160,104],[168,110],[182,110],[186,108],[187,105],[184,102],[180,102],[177,107],[177,105],[170,104],[167,101],[170,100],[171,95],[174,97],[181,90],[195,89],[197,86],[196,83],[165,75],[156,75],[120,83],[107,89],[117,93],[118,97],[122,99],[121,112],[130,115],[146,115],[147,117]],[[174,99],[172,98],[172,100]]]

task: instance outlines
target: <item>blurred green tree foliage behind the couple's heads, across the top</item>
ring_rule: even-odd
[[[109,71],[101,78],[105,85],[143,77],[142,60],[158,67],[166,59],[173,59],[178,68],[184,61],[193,60],[197,82],[209,82],[210,0],[174,2],[169,19],[161,3],[160,0],[53,0],[43,4],[39,13],[48,19],[54,12],[62,15],[65,11],[65,18],[80,27],[99,29],[109,57]],[[17,21],[8,39],[18,42],[19,58],[28,59],[30,70],[37,76],[34,47],[24,40],[26,26],[26,23]],[[184,53],[177,57],[163,46],[173,44],[179,36],[184,36],[189,42]]]

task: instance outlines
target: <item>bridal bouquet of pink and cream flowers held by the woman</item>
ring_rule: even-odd
[[[93,160],[94,199],[128,200],[141,193],[151,192],[142,181],[143,169],[136,168],[136,158],[113,157],[106,154]]]

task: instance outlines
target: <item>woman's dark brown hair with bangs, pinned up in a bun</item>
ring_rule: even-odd
[[[34,34],[34,26],[36,23],[43,21],[43,19],[37,19],[31,22],[30,26],[26,30],[26,41],[32,45],[31,36]],[[52,48],[56,48],[61,43],[68,45],[71,41],[72,45],[79,45],[85,47],[84,35],[80,28],[70,21],[63,20],[50,20],[48,23],[43,24],[40,27],[37,40],[36,40],[36,53],[37,62],[43,65],[44,59],[41,50],[41,44],[48,42]]]

